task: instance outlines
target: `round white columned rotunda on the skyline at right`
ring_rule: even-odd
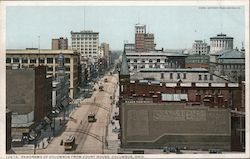
[[[226,34],[218,34],[210,38],[210,54],[225,49],[233,49],[233,37],[228,37]]]

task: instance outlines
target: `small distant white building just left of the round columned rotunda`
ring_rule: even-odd
[[[192,47],[193,54],[199,55],[208,55],[209,54],[209,46],[205,41],[195,40]]]

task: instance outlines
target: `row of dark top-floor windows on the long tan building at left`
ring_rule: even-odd
[[[53,63],[53,59],[54,58],[46,58],[47,63],[52,64]],[[13,63],[19,63],[20,61],[22,63],[28,63],[28,60],[30,61],[30,63],[36,63],[38,59],[36,59],[36,58],[31,58],[31,59],[27,59],[27,58],[22,58],[22,59],[20,59],[20,58],[13,58]],[[55,62],[58,63],[58,59],[57,58],[55,59]],[[65,63],[70,63],[70,58],[65,58],[64,62]],[[7,57],[6,58],[6,63],[11,63],[11,58]],[[39,63],[45,63],[45,59],[44,58],[40,58],[39,59]]]

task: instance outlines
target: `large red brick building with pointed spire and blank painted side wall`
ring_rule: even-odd
[[[207,150],[216,145],[223,150],[231,150],[230,111],[243,106],[242,83],[230,82],[210,74],[204,68],[155,68],[130,73],[125,53],[119,82],[121,142],[124,148],[160,148],[166,145],[177,145],[189,149],[200,147]],[[173,119],[168,117],[171,113],[161,114],[164,119],[161,122],[156,122],[152,117],[155,111],[168,112],[172,109],[175,109],[173,111],[176,115],[173,116]],[[201,110],[207,118],[203,118],[204,122],[201,123],[187,122],[190,109]],[[178,114],[181,114],[181,122],[178,121]],[[194,116],[197,115],[199,116],[200,113],[196,113]],[[223,126],[216,125],[217,120],[223,120],[223,124],[221,123]],[[185,122],[187,123],[185,124]],[[136,123],[138,123],[137,126],[140,126],[137,127]],[[177,123],[187,127],[178,127]],[[205,126],[204,130],[196,128],[196,124],[209,125],[211,123],[216,124]],[[132,130],[131,124],[134,125],[134,130]],[[173,127],[175,124],[177,126]],[[167,130],[167,127],[172,127],[172,129]],[[153,132],[154,130],[159,132]],[[188,130],[188,134],[186,134],[186,130]],[[202,131],[211,133],[206,134]],[[156,135],[156,133],[158,134]],[[176,134],[176,136],[169,136],[169,133]],[[182,135],[178,136],[178,134]],[[193,136],[194,134],[198,135],[197,138]],[[213,135],[210,136],[211,134]]]

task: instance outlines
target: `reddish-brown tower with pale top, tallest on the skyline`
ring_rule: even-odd
[[[146,25],[135,25],[135,49],[136,52],[155,50],[154,34],[146,33]]]

